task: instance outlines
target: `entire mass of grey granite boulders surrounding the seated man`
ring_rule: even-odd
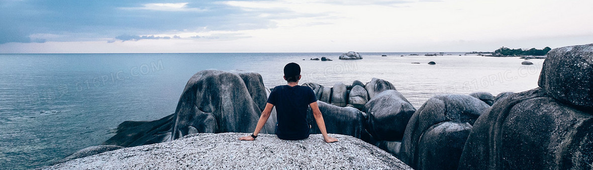
[[[380,152],[372,150],[375,147],[367,144],[370,143],[414,169],[593,169],[593,44],[550,51],[538,85],[537,89],[526,92],[503,92],[497,96],[485,92],[436,95],[416,109],[393,84],[379,78],[372,78],[366,84],[357,80],[351,85],[336,83],[333,87],[305,83],[302,86],[313,89],[319,100],[328,133],[354,138],[336,135],[340,141],[327,145],[309,142],[321,141],[318,135],[300,141],[280,141],[274,136],[262,134],[262,139],[258,138],[262,143],[241,143],[236,138],[246,134],[228,132],[253,132],[269,89],[263,86],[262,77],[257,73],[205,70],[190,78],[174,114],[150,122],[123,122],[117,128],[117,134],[103,143],[104,146],[83,149],[65,158],[62,161],[65,163],[53,167],[87,167],[80,163],[94,161],[125,163],[127,158],[133,158],[133,161],[141,163],[120,163],[121,167],[193,169],[208,165],[215,169],[256,166],[276,169],[278,167],[274,163],[260,165],[258,162],[280,162],[283,167],[295,169],[331,168],[324,165],[347,169],[408,168],[391,160],[390,156],[374,156]],[[274,133],[275,116],[273,111],[262,133]],[[311,109],[308,110],[307,121],[313,125],[312,134],[320,133]],[[219,138],[212,141],[197,139],[206,136]],[[183,139],[175,140],[177,138]],[[154,144],[164,141],[171,143]],[[176,149],[177,143],[208,149],[202,149],[203,152],[197,149],[199,154],[190,153],[193,156],[186,157],[187,154],[181,153],[195,150]],[[358,147],[342,146],[351,143]],[[132,147],[145,144],[153,145]],[[243,147],[244,144],[257,146]],[[123,147],[132,148],[120,149]],[[219,147],[225,147],[219,149],[221,153],[263,148],[248,150],[247,155],[266,155],[259,156],[266,160],[246,161],[249,163],[244,165],[237,162],[249,159],[241,157],[241,154],[216,155],[208,151]],[[304,155],[297,152],[302,149],[311,151]],[[151,158],[149,153],[144,152],[154,150],[160,154],[173,154],[177,164],[170,164],[168,160],[147,164],[140,160]],[[167,153],[167,150],[174,153]],[[288,156],[283,155],[293,151]],[[310,156],[309,152],[330,159],[330,162],[318,166],[298,163],[319,159]],[[84,158],[97,153],[101,154]],[[324,156],[335,154],[344,157]],[[217,160],[205,161],[213,158]],[[367,159],[359,160],[361,158]],[[183,163],[194,160],[205,162]],[[88,166],[93,167],[96,166]]]

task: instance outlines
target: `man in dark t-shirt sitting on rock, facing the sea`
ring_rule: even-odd
[[[317,105],[317,98],[310,87],[298,86],[301,80],[301,67],[291,62],[284,67],[284,80],[288,85],[276,86],[267,98],[266,108],[257,122],[256,130],[251,136],[239,138],[240,140],[255,140],[260,133],[267,118],[270,117],[272,108],[276,106],[278,124],[276,136],[283,140],[301,140],[309,137],[311,125],[307,122],[307,106],[313,109],[315,122],[327,143],[337,141],[327,135],[326,124]]]

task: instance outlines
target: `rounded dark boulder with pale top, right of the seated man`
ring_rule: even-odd
[[[375,140],[401,140],[416,109],[396,90],[385,90],[362,109],[368,114],[368,132]]]

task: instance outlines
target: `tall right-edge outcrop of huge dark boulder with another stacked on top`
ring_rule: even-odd
[[[459,169],[593,169],[593,44],[550,51],[540,88],[477,119]]]

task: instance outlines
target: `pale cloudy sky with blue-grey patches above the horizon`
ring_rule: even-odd
[[[0,0],[0,53],[454,52],[593,43],[590,0]]]

